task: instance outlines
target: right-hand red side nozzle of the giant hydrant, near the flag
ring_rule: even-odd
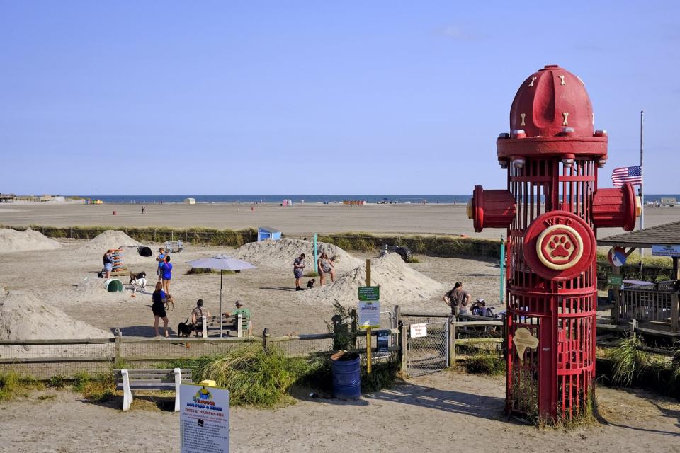
[[[623,226],[625,231],[633,231],[639,210],[640,199],[630,183],[598,189],[593,197],[593,223],[597,228]]]

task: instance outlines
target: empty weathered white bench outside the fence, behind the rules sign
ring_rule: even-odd
[[[179,386],[191,384],[191,369],[114,369],[115,389],[123,390],[123,411],[130,409],[132,390],[174,390],[179,411]]]

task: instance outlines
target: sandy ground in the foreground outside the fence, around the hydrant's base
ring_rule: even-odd
[[[56,396],[37,399],[45,393]],[[600,388],[605,423],[565,432],[507,420],[503,396],[502,379],[442,372],[356,403],[232,408],[232,452],[680,452],[676,401]],[[45,391],[0,403],[0,452],[179,452],[179,415],[142,398],[123,413],[120,399],[87,403]]]

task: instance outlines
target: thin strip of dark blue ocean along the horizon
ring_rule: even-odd
[[[197,203],[280,203],[293,200],[295,203],[337,203],[343,200],[365,200],[369,203],[467,203],[471,194],[464,195],[79,195],[91,200],[102,200],[106,203],[176,203],[185,198],[195,198]],[[645,202],[659,202],[662,197],[674,197],[680,201],[680,195],[645,194]]]

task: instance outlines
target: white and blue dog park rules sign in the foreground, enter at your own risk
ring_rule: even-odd
[[[181,453],[228,453],[229,391],[182,384],[179,403]]]

